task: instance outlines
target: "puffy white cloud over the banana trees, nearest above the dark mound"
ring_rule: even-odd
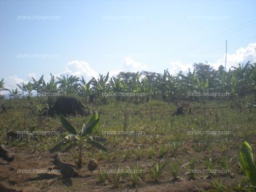
[[[65,71],[61,74],[70,74],[77,77],[83,76],[87,80],[98,76],[98,73],[86,61],[70,61]]]

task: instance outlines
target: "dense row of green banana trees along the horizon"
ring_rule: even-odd
[[[0,91],[4,88],[4,79],[0,81]],[[49,82],[45,82],[44,75],[36,80],[31,78],[29,83],[17,84],[17,88],[8,90],[10,97],[19,99],[33,91],[36,93],[61,93],[63,95],[76,95],[83,97],[86,102],[108,102],[108,100],[129,100],[125,97],[102,97],[102,93],[145,93],[143,97],[135,96],[132,100],[147,102],[150,99],[161,99],[165,102],[188,99],[199,100],[202,98],[188,97],[188,93],[211,92],[230,93],[230,98],[253,95],[256,102],[256,63],[250,61],[245,65],[239,64],[226,72],[220,65],[218,70],[207,63],[195,63],[193,70],[177,76],[172,76],[168,69],[163,74],[156,72],[120,72],[117,76],[109,78],[99,74],[96,79],[92,77],[86,82],[84,77],[61,75],[55,77],[51,74]],[[103,94],[104,95],[104,94]],[[220,99],[211,97],[211,99]]]

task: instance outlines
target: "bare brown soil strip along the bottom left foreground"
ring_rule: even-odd
[[[11,162],[0,160],[0,191],[199,191],[209,189],[209,182],[204,179],[194,181],[182,180],[170,182],[163,180],[159,184],[142,183],[138,189],[130,186],[120,186],[113,189],[108,180],[97,183],[99,170],[89,172],[86,166],[78,177],[65,179],[60,173],[18,173],[19,170],[54,168],[50,154],[36,154],[16,147],[8,147],[15,154]],[[29,161],[28,161],[29,160]],[[29,163],[28,163],[29,162]],[[86,164],[86,162],[83,162]]]

